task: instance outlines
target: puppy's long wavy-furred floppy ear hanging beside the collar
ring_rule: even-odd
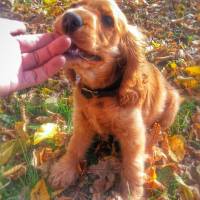
[[[128,25],[128,30],[120,41],[120,52],[126,60],[118,94],[121,106],[137,105],[143,96],[142,67],[145,62],[143,39],[136,26]]]

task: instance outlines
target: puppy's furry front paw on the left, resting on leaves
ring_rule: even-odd
[[[52,166],[48,182],[53,188],[67,188],[77,177],[78,171],[76,166],[60,160]]]

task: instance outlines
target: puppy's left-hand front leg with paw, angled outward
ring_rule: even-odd
[[[78,177],[78,166],[84,158],[94,136],[87,121],[76,117],[74,133],[70,139],[67,152],[56,162],[50,171],[49,183],[54,188],[65,188]]]

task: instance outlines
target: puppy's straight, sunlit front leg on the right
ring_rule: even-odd
[[[119,127],[117,135],[122,153],[122,195],[124,200],[140,200],[143,196],[145,126],[139,110],[122,118],[122,128]]]

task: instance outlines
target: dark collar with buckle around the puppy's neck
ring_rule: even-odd
[[[112,85],[106,87],[106,88],[100,88],[91,90],[88,87],[84,86],[81,88],[81,94],[86,99],[91,99],[93,97],[113,97],[117,94],[117,91],[120,87],[120,84],[122,82],[122,77],[120,77],[117,81],[115,81]]]

